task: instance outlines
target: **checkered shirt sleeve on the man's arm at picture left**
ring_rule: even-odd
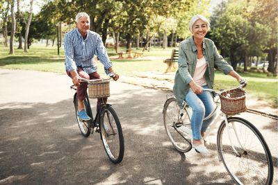
[[[74,62],[74,44],[69,33],[65,35],[64,47],[65,47],[65,69],[67,71],[76,70],[77,67]]]

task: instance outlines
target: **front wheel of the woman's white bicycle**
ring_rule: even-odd
[[[223,121],[219,127],[217,141],[222,162],[234,182],[272,184],[270,150],[252,123],[243,118],[228,118],[228,125]]]

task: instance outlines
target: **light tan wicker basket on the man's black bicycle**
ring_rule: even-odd
[[[88,82],[89,98],[105,98],[110,96],[109,80]]]

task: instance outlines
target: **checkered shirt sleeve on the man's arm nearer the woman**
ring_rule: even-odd
[[[108,69],[109,67],[112,67],[112,62],[109,60],[107,52],[106,52],[106,48],[104,47],[104,44],[101,40],[101,37],[97,37],[96,40],[96,45],[97,45],[97,58],[99,58],[100,62],[102,64],[104,64],[104,71],[106,72],[106,74],[109,73]]]

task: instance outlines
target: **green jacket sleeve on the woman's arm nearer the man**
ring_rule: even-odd
[[[190,75],[188,71],[188,61],[186,60],[186,53],[185,53],[185,47],[184,44],[180,44],[179,46],[179,74],[181,76],[181,79],[184,83],[189,84],[193,80],[192,76]]]

